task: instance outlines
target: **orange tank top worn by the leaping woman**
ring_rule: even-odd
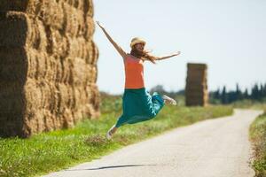
[[[144,61],[127,55],[124,58],[125,65],[125,89],[141,89],[144,83]]]

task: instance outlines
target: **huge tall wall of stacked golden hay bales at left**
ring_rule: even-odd
[[[92,0],[1,0],[0,136],[99,114]]]

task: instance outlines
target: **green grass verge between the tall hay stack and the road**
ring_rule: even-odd
[[[99,119],[87,119],[72,129],[34,135],[29,139],[0,139],[0,176],[37,176],[58,171],[171,128],[232,113],[231,106],[166,106],[155,119],[121,127],[112,141],[106,141],[106,131],[121,114],[121,97],[104,96],[101,110]]]

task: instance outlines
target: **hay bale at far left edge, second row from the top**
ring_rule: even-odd
[[[2,12],[0,15],[0,47],[33,47],[46,49],[43,24],[31,20],[23,12]]]

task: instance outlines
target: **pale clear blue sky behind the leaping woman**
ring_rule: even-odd
[[[266,83],[265,0],[94,0],[99,21],[123,50],[133,37],[145,39],[155,56],[181,51],[175,58],[145,62],[145,88],[184,89],[187,63],[207,64],[209,90],[250,89]],[[121,56],[99,27],[98,89],[124,90]]]

